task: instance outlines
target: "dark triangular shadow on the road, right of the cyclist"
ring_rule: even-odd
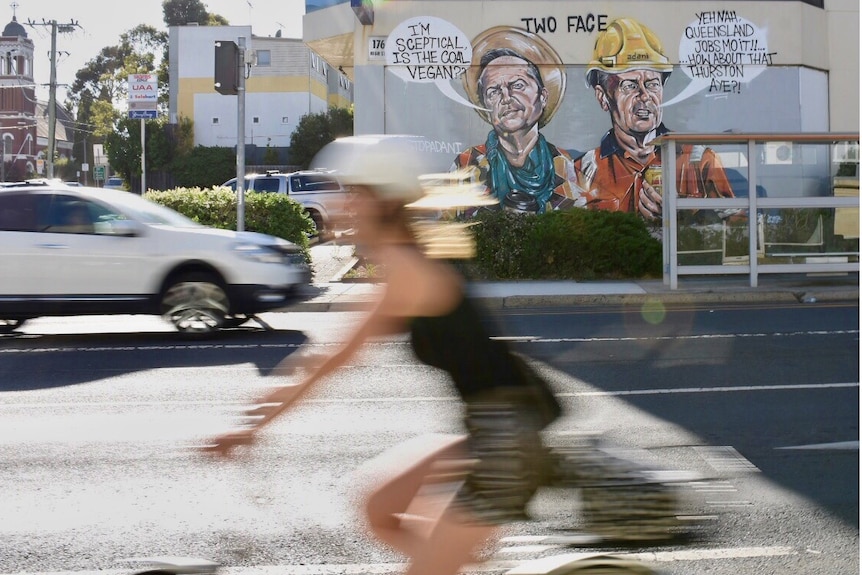
[[[780,310],[768,325],[750,327],[741,325],[742,316],[752,313],[744,309],[668,310],[660,325],[645,321],[641,310],[617,313],[625,316],[613,324],[624,325],[622,332],[592,324],[593,316],[584,312],[577,333],[563,338],[569,341],[517,347],[591,391],[686,429],[702,445],[733,448],[758,476],[858,529],[858,446],[832,447],[836,439],[852,443],[859,437],[858,337],[841,333],[858,331],[858,323],[834,321],[837,333],[830,335]],[[804,335],[809,329],[819,330],[812,336],[816,345]],[[734,337],[737,331],[758,335]],[[836,385],[800,385],[809,382]],[[818,447],[824,444],[829,447]]]

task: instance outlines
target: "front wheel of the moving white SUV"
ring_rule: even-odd
[[[225,323],[230,302],[219,279],[212,274],[181,276],[162,296],[162,315],[180,333],[206,335]]]

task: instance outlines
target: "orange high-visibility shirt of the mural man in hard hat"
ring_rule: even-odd
[[[668,130],[659,126],[656,135]],[[601,145],[577,160],[584,192],[578,206],[593,210],[636,211],[643,189],[644,172],[650,166],[661,166],[661,149],[643,164],[629,156],[619,145],[613,130],[602,138]],[[712,148],[677,146],[676,183],[679,197],[732,198],[733,189],[724,166]]]

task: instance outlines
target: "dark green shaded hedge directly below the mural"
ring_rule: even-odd
[[[539,215],[485,211],[473,226],[474,275],[486,279],[661,277],[661,243],[643,220],[622,212]]]

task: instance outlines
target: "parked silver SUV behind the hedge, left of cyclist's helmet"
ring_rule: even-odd
[[[236,191],[236,178],[231,178],[222,186]],[[350,228],[350,194],[335,176],[325,171],[248,174],[243,189],[247,192],[287,194],[303,205],[318,233]]]

